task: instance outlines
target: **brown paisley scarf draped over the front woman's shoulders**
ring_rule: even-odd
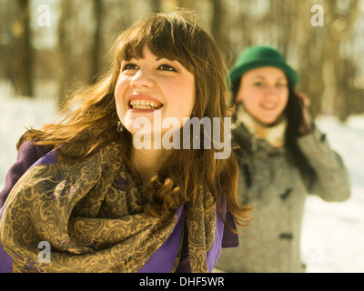
[[[0,243],[13,258],[13,272],[138,272],[147,264],[178,216],[144,213],[145,190],[120,152],[120,145],[111,143],[70,165],[56,163],[53,151],[25,172],[0,222]],[[205,211],[211,201],[210,193],[201,191],[193,205],[184,206],[192,272],[208,272],[217,219],[215,208]],[[50,262],[39,260],[40,242],[50,244]],[[178,261],[177,255],[170,271]]]

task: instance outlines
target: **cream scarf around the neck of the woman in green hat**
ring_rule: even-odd
[[[250,135],[257,139],[264,139],[270,146],[283,146],[287,128],[287,118],[285,115],[278,117],[274,125],[264,125],[240,105],[237,112],[237,124],[243,124],[248,129]]]

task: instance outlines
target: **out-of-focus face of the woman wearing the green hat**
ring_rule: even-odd
[[[263,124],[273,124],[288,103],[288,80],[276,67],[258,67],[242,76],[236,98],[250,115]]]

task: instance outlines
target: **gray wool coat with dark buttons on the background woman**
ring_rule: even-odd
[[[243,125],[233,136],[243,149],[237,152],[239,199],[253,207],[254,220],[240,228],[244,234],[239,236],[238,247],[222,249],[216,268],[226,272],[304,272],[299,244],[306,196],[313,194],[325,201],[348,199],[346,167],[316,126],[298,139],[314,178],[300,173],[285,147],[274,148],[253,138]],[[243,145],[251,151],[250,163]]]

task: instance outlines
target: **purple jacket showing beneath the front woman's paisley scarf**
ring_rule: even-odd
[[[3,206],[5,204],[6,197],[9,195],[13,186],[17,180],[23,176],[25,171],[33,166],[35,162],[54,163],[52,159],[48,159],[47,155],[49,150],[45,146],[34,146],[31,142],[25,142],[19,148],[17,160],[13,166],[11,166],[5,179],[5,188],[0,192],[0,219],[3,213]],[[39,159],[42,158],[41,161]],[[179,248],[179,242],[182,236],[182,221],[184,219],[183,206],[177,210],[178,221],[175,229],[171,236],[168,237],[167,241],[160,246],[156,253],[150,257],[147,264],[142,267],[139,272],[145,273],[159,273],[159,272],[170,272],[173,263],[176,260],[177,250]],[[230,226],[235,226],[234,220],[231,215],[227,212],[227,221]],[[187,234],[187,231],[185,231]],[[188,246],[187,236],[183,237],[183,245],[181,251],[181,257],[179,265],[177,266],[177,272],[187,273],[190,272],[189,259],[188,259]],[[236,247],[238,246],[238,236],[233,234],[224,225],[220,216],[217,215],[217,230],[215,235],[215,242],[211,249],[207,252],[207,266],[211,272],[214,268],[217,258],[220,255],[221,247]],[[12,272],[12,259],[8,256],[0,245],[0,273]]]

